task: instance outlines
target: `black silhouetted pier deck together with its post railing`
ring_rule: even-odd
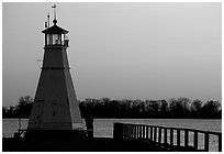
[[[3,152],[209,152],[211,135],[222,151],[222,133],[184,128],[114,123],[113,138],[69,136],[2,139]],[[203,147],[202,147],[203,145]]]

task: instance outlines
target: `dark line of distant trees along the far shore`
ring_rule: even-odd
[[[21,97],[15,107],[2,108],[3,118],[29,118],[33,105],[30,96]],[[166,100],[111,100],[86,99],[79,101],[82,118],[133,118],[133,119],[222,119],[219,101],[203,102],[188,98]]]

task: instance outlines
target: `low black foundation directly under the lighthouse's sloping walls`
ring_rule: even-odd
[[[24,138],[33,139],[79,139],[86,136],[86,130],[27,130],[24,134]]]

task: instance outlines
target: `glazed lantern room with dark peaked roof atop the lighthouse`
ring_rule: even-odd
[[[68,31],[57,26],[57,20],[54,20],[54,25],[45,29],[42,33],[45,34],[45,46],[66,46],[68,47]]]

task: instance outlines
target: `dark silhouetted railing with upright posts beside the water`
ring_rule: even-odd
[[[220,132],[130,123],[114,123],[113,129],[114,139],[142,140],[170,151],[209,152],[210,136],[215,135],[219,143],[217,151],[222,151],[222,133]],[[202,136],[200,141],[199,135]],[[203,148],[199,148],[199,143],[203,145]]]

